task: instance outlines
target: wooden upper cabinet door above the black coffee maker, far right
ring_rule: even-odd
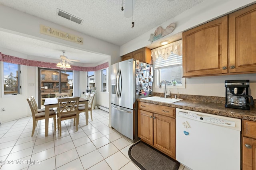
[[[256,4],[229,15],[229,72],[256,71]]]

